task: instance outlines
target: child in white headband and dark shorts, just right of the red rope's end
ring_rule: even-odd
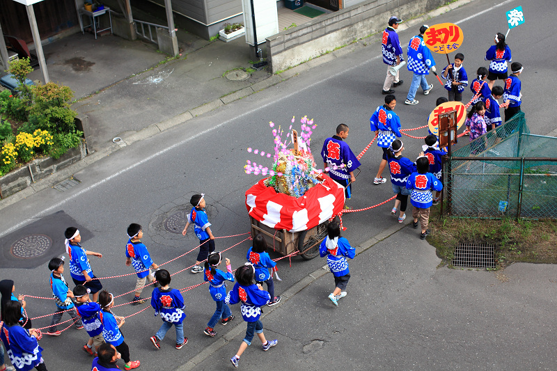
[[[389,171],[391,171],[391,186],[396,195],[395,207],[391,210],[391,215],[396,215],[400,206],[400,215],[398,223],[402,223],[406,219],[406,207],[408,205],[408,195],[410,191],[406,189],[406,180],[408,176],[416,170],[414,162],[406,157],[402,157],[402,150],[405,149],[404,143],[400,139],[396,139],[389,146]]]

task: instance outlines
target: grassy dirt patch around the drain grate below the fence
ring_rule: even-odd
[[[495,246],[498,268],[512,262],[557,263],[557,221],[515,219],[461,219],[439,215],[439,207],[430,216],[432,235],[427,237],[437,256],[446,265],[453,260],[455,246],[462,242]]]

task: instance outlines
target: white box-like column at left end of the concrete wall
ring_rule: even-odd
[[[302,1],[302,0],[300,0]],[[253,14],[256,15],[257,42],[253,36]],[[278,33],[278,12],[276,0],[242,0],[244,10],[244,25],[246,27],[246,42],[249,45],[259,45],[265,42],[269,36]]]

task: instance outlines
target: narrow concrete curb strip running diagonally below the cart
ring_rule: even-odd
[[[409,224],[410,224],[410,221],[408,221],[407,223],[400,223],[400,224],[397,223],[397,224],[387,228],[386,230],[383,230],[382,232],[379,232],[379,234],[375,235],[375,237],[372,237],[372,238],[368,239],[368,241],[364,242],[363,244],[361,244],[359,246],[356,246],[356,256],[360,255],[364,251],[367,251],[373,245],[381,242],[382,240],[386,239],[387,237],[395,234],[396,232],[398,232],[402,228],[405,228],[406,226],[409,226]],[[288,289],[286,289],[286,291],[281,293],[281,297],[282,297],[281,302],[276,304],[275,306],[272,306],[272,307],[265,307],[265,313],[263,313],[261,315],[261,317],[262,318],[267,317],[267,315],[269,315],[269,313],[272,313],[273,310],[276,310],[277,308],[280,308],[283,305],[283,303],[285,303],[288,300],[295,297],[295,295],[298,292],[300,292],[301,290],[304,290],[304,288],[308,287],[309,285],[311,285],[312,283],[317,281],[318,278],[324,276],[327,273],[329,273],[329,271],[327,270],[327,265],[325,265],[324,267],[321,267],[321,268],[311,272],[310,274],[308,274],[308,276],[302,278],[301,281],[298,281],[294,285],[288,287]],[[235,340],[235,338],[237,336],[244,333],[244,331],[246,331],[246,325],[244,324],[243,320],[240,321],[240,316],[238,316],[238,319],[239,319],[238,324],[236,326],[234,326],[230,331],[228,331],[228,333],[226,333],[224,336],[222,336],[221,338],[216,340],[209,347],[206,347],[205,349],[203,349],[202,352],[196,354],[196,356],[194,356],[194,358],[191,358],[189,361],[187,361],[186,363],[181,365],[179,368],[176,368],[175,370],[176,371],[191,371],[191,370],[194,370],[194,368],[198,364],[205,361],[205,359],[209,358],[214,352],[221,349],[221,347],[224,347],[229,342],[232,342],[233,340]],[[238,343],[240,343],[240,342],[238,342]]]

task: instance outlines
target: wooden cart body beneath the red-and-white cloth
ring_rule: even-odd
[[[329,221],[301,232],[289,232],[285,229],[276,230],[265,226],[260,221],[249,217],[251,221],[251,235],[263,235],[267,246],[274,248],[281,255],[288,255],[299,251],[300,256],[306,260],[311,260],[319,255],[319,246],[323,239],[327,237],[327,225]]]

